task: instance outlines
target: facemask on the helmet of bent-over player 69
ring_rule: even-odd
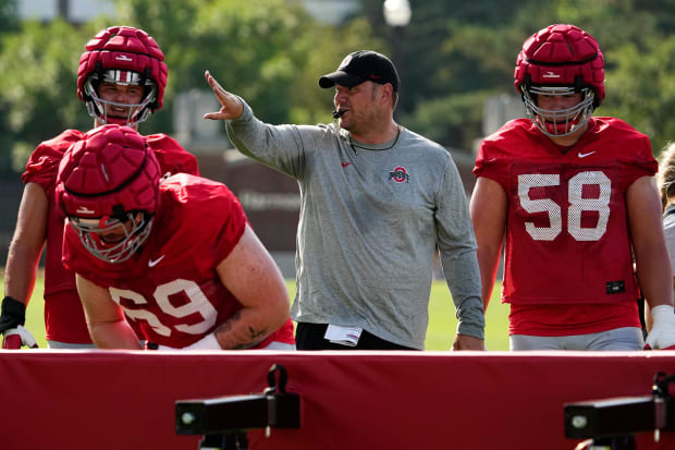
[[[148,239],[154,215],[125,211],[120,217],[85,219],[69,216],[68,219],[89,253],[106,263],[115,264],[131,258]],[[107,240],[107,235],[114,239]]]

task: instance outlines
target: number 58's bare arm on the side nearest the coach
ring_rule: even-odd
[[[482,304],[486,311],[490,303],[500,262],[506,226],[506,207],[504,188],[496,181],[479,177],[471,194],[469,214],[478,244],[478,267],[480,268]]]

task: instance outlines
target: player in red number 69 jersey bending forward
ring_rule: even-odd
[[[134,324],[160,349],[293,350],[285,282],[232,192],[160,173],[119,125],[88,132],[61,161],[63,263],[96,345],[140,349]]]

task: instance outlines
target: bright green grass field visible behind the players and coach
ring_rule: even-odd
[[[47,348],[45,341],[45,320],[42,317],[42,278],[39,278],[30,305],[26,312],[26,328],[33,332],[41,349]],[[291,299],[295,295],[295,281],[287,281]],[[488,350],[508,350],[508,306],[499,301],[500,285],[495,285],[490,308],[486,317],[486,346]],[[4,296],[4,295],[3,295]],[[444,281],[434,281],[431,287],[429,302],[429,328],[427,330],[427,350],[449,350],[457,328],[455,308],[450,299]]]

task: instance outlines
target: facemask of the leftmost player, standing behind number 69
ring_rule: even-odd
[[[114,101],[103,100],[98,95],[98,86],[101,82],[114,83],[123,86],[134,85],[143,86],[144,98],[139,104],[118,104]],[[93,73],[85,82],[84,90],[90,97],[86,101],[87,112],[94,119],[106,125],[114,123],[118,125],[136,126],[144,122],[150,115],[149,105],[157,99],[157,84],[147,77],[143,77],[138,72],[127,70],[109,69]],[[125,119],[109,117],[109,107],[118,107],[127,109]]]

